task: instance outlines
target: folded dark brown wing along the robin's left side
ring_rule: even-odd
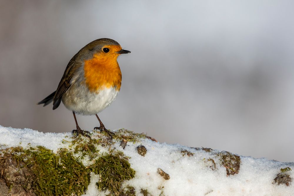
[[[76,55],[69,61],[69,64],[66,66],[64,74],[59,82],[56,93],[53,99],[53,110],[56,109],[60,102],[62,95],[69,89],[69,87],[74,83],[72,78],[76,73],[76,69],[81,65],[75,61]]]

